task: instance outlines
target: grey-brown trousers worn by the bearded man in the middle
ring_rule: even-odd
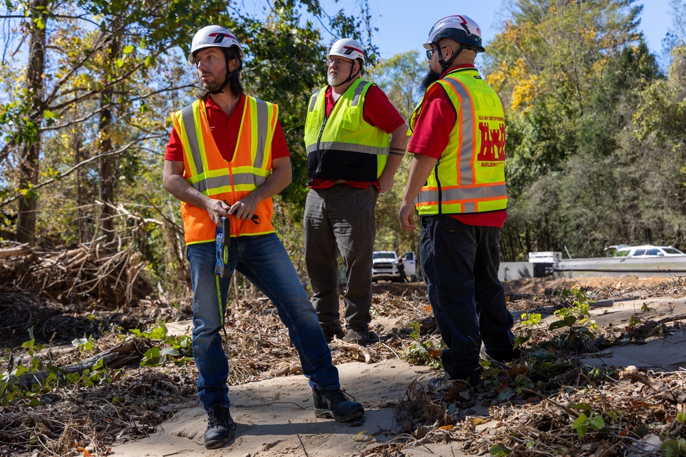
[[[340,253],[347,284],[343,293],[348,328],[367,332],[372,320],[372,252],[377,226],[375,186],[360,189],[337,184],[310,189],[305,201],[305,263],[314,291],[312,304],[329,335],[341,331],[338,312]]]

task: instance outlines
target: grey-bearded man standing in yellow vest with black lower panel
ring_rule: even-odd
[[[312,95],[305,122],[305,262],[327,341],[336,336],[366,345],[379,339],[369,330],[374,207],[379,193],[393,187],[407,145],[407,124],[386,94],[362,79],[359,42],[335,42],[327,66],[329,85]],[[347,334],[338,312],[338,254],[347,280]]]

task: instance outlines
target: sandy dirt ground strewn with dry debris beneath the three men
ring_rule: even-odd
[[[686,281],[549,277],[504,286],[513,332],[518,337],[530,332],[525,345],[531,354],[508,369],[487,363],[478,388],[451,390],[445,397],[427,394],[427,381],[440,373],[440,334],[425,284],[378,282],[372,329],[381,341],[370,347],[331,345],[342,387],[366,413],[351,423],[317,419],[287,331],[270,301],[258,298],[233,303],[227,317],[237,430],[226,447],[203,446],[206,415],[196,396],[192,359],[141,367],[143,351],[150,347],[143,338],[148,345],[134,362],[110,372],[111,380],[90,388],[44,390],[31,396],[36,406],[4,408],[0,456],[399,457],[483,455],[492,449],[526,455],[534,448],[538,454],[600,457],[627,449],[654,454],[660,445],[686,436],[683,421],[675,419],[686,415]],[[573,288],[591,300],[589,319],[600,336],[591,345],[536,347],[551,335],[548,325],[560,319],[554,313],[571,304],[558,293]],[[191,331],[192,312],[185,301],[170,305],[146,297],[112,309],[101,301],[59,302],[46,291],[0,286],[0,346],[18,347],[30,329],[36,343],[47,346],[40,354],[62,367],[117,347],[132,332],[159,321],[166,321],[176,343]],[[521,319],[534,313],[541,322],[524,328]],[[70,344],[89,333],[99,335],[89,351]],[[5,352],[8,367],[27,352]],[[600,379],[604,387],[589,389],[600,386]],[[622,420],[604,428],[602,439],[594,441],[589,434],[578,441],[571,426],[580,413],[573,405],[600,404],[602,410],[585,410],[590,418],[604,417],[610,424],[621,411]]]

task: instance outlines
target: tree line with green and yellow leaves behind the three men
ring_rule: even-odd
[[[686,3],[670,0],[663,66],[639,32],[641,8],[637,0],[508,3],[480,64],[507,112],[502,260],[685,244]],[[354,12],[278,0],[260,14],[215,0],[8,0],[0,12],[0,234],[31,244],[134,243],[150,273],[170,281],[183,254],[178,202],[161,170],[169,113],[196,90],[186,59],[197,29],[221,23],[235,32],[247,48],[246,90],[281,107],[294,182],[276,198],[275,223],[298,271],[306,103],[325,84],[328,45],[361,40],[369,79],[405,119],[422,95],[426,63],[416,52],[377,58],[364,0]],[[417,250],[417,234],[397,223],[409,160],[379,199],[377,249]]]

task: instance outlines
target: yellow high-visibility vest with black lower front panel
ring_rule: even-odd
[[[305,120],[308,182],[350,180],[375,182],[388,158],[388,134],[362,116],[364,96],[372,83],[355,79],[326,116],[327,87],[309,101]]]

